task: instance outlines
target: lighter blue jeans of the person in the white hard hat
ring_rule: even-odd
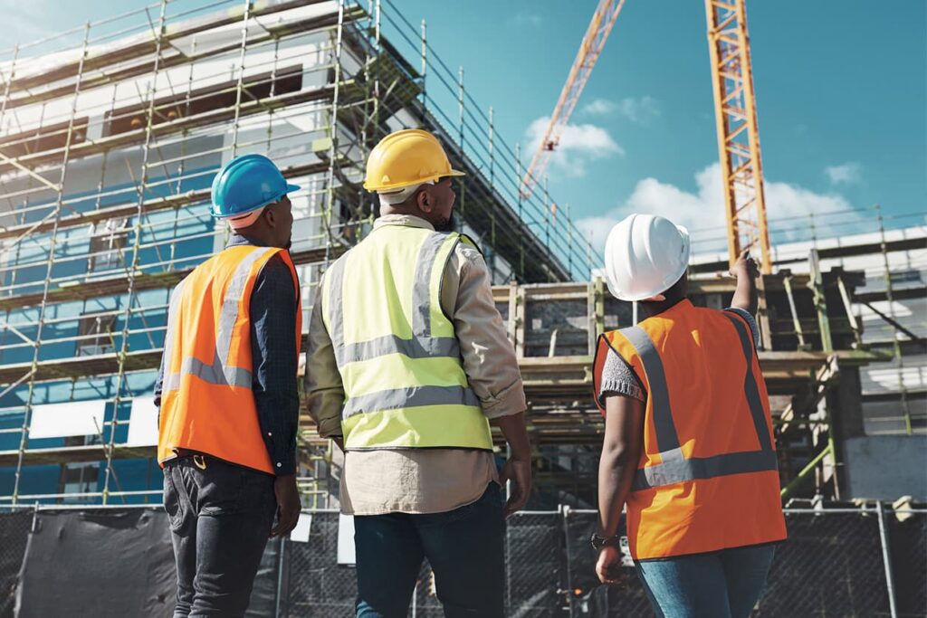
[[[745,618],[763,592],[773,545],[637,561],[658,617]]]

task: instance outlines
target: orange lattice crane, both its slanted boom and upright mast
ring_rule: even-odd
[[[625,0],[600,0],[592,14],[547,131],[522,180],[522,197],[533,193],[547,168],[624,3]],[[705,0],[705,17],[729,259],[733,264],[744,248],[757,247],[761,271],[768,274],[772,271],[772,259],[744,0]]]

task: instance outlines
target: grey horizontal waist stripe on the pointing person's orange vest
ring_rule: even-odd
[[[631,491],[696,481],[730,474],[760,473],[779,469],[773,450],[750,450],[714,457],[666,461],[638,470]]]

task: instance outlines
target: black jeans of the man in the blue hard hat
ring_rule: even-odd
[[[192,457],[164,466],[181,616],[243,616],[270,536],[273,476],[222,460]]]

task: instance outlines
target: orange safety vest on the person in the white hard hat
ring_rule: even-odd
[[[627,500],[637,560],[785,538],[766,383],[748,324],[686,299],[596,350],[596,405],[609,349],[647,391],[643,449]]]

